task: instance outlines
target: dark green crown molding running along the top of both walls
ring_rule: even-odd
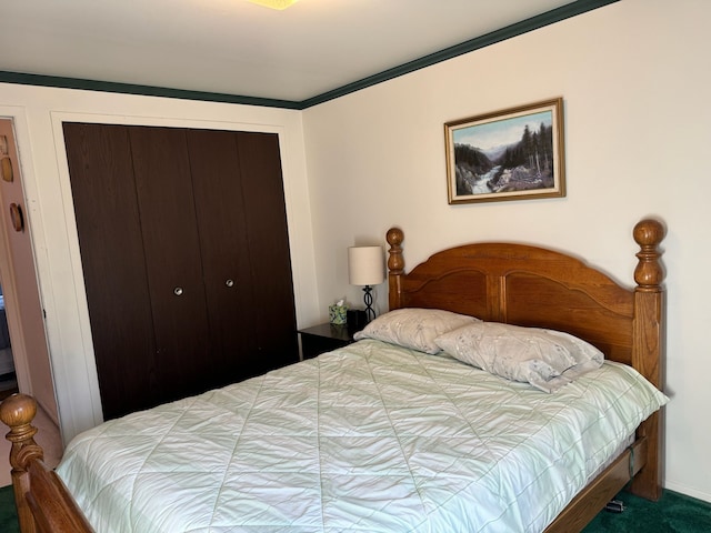
[[[515,24],[507,26],[505,28],[464,41],[460,44],[445,48],[439,52],[430,53],[429,56],[388,69],[378,74],[363,78],[362,80],[348,83],[343,87],[309,98],[301,102],[7,71],[0,71],[0,82],[303,110],[619,1],[620,0],[575,0],[574,2],[561,6],[560,8],[547,11],[545,13],[517,22]]]

